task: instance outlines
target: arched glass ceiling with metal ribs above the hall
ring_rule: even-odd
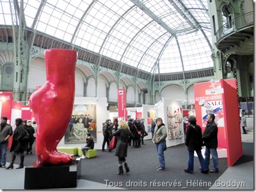
[[[10,1],[1,0],[0,24],[12,25]],[[134,68],[177,73],[213,67],[207,0],[23,2],[26,26]]]

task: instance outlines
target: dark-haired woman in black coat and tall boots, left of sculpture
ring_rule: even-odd
[[[15,161],[16,154],[20,156],[20,165],[17,168],[24,167],[24,151],[26,151],[27,149],[27,142],[26,140],[24,140],[26,132],[22,122],[23,121],[20,118],[15,119],[16,128],[13,131],[12,147],[10,149],[10,152],[12,152],[12,161],[6,169],[13,168],[13,163]]]

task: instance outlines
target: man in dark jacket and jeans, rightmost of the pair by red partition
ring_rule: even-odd
[[[218,126],[214,122],[215,115],[207,115],[207,125],[203,133],[203,140],[205,144],[205,165],[209,169],[210,154],[212,155],[213,168],[210,170],[211,173],[219,172],[219,159],[218,159]]]

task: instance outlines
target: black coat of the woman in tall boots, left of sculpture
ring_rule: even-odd
[[[21,124],[15,128],[13,131],[13,140],[12,140],[12,147],[10,152],[15,152],[18,154],[19,152],[24,152],[27,149],[27,142],[24,140],[25,137],[25,128]]]

